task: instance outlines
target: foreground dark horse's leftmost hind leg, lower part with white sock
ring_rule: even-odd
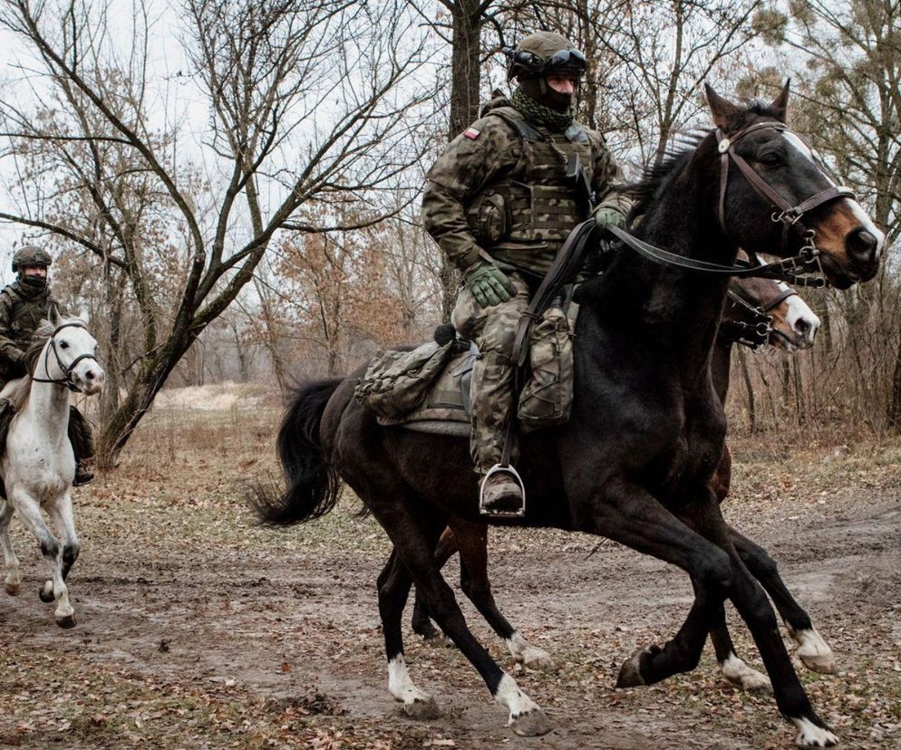
[[[388,659],[388,691],[403,704],[403,710],[413,718],[431,719],[441,716],[435,699],[413,684],[407,662],[403,657],[401,620],[403,605],[410,593],[412,576],[392,550],[379,575],[379,614]]]

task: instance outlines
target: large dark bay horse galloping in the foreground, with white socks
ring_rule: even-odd
[[[627,659],[619,685],[650,685],[694,668],[729,599],[761,652],[780,713],[798,728],[798,745],[834,745],[712,490],[725,417],[710,363],[728,276],[683,266],[731,269],[742,247],[812,260],[846,289],[877,273],[884,236],[786,130],[788,87],[767,106],[738,107],[712,90],[708,99],[717,130],[674,159],[667,178],[644,196],[641,238],[682,264],[623,252],[606,274],[582,285],[573,415],[523,439],[518,470],[527,512],[503,523],[603,535],[690,575],[695,599],[687,620],[664,646]],[[528,736],[547,732],[541,708],[470,632],[434,561],[450,518],[480,518],[468,441],[381,427],[354,400],[356,377],[295,394],[279,432],[289,486],[280,497],[258,498],[258,513],[272,524],[315,518],[334,506],[343,479],[394,545],[378,579],[392,695],[413,716],[436,711],[403,659],[402,612],[415,582],[441,630],[507,709],[509,726]]]

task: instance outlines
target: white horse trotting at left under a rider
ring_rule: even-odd
[[[69,494],[75,476],[75,458],[67,434],[69,391],[87,395],[101,391],[105,373],[96,351],[97,341],[84,322],[61,319],[51,310],[49,320],[41,322],[34,332],[34,343],[26,356],[32,363],[31,374],[7,383],[0,392],[0,397],[9,399],[15,408],[0,456],[6,495],[0,500],[5,589],[15,595],[22,582],[9,537],[9,522],[18,511],[50,563],[51,580],[44,583],[40,596],[43,601],[56,600],[53,615],[61,628],[75,624],[65,579],[79,552]],[[60,543],[44,523],[42,508],[63,536],[62,555]]]

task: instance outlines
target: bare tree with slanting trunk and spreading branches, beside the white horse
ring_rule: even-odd
[[[33,94],[48,104],[51,91],[62,109],[47,108],[58,123],[48,128],[27,106],[4,102],[5,153],[39,143],[47,173],[73,169],[65,197],[93,208],[85,222],[71,211],[54,221],[39,208],[57,196],[44,198],[41,175],[24,175],[23,210],[0,218],[80,245],[129,278],[143,341],[127,396],[102,430],[112,461],[299,207],[363,197],[417,158],[411,144],[428,92],[415,78],[424,43],[401,2],[183,0],[180,73],[208,122],[200,133],[186,132],[188,117],[160,129],[155,107],[169,91],[150,74],[148,10],[137,0],[134,38],[121,45],[108,9],[0,5],[0,24],[38,60]],[[200,141],[196,159],[189,138]],[[144,213],[117,203],[123,175],[140,176]],[[104,244],[88,222],[102,226]],[[159,227],[160,245],[142,238],[148,224]]]

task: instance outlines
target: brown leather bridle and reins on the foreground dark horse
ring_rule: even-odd
[[[819,263],[819,249],[814,241],[814,230],[804,226],[801,218],[814,208],[836,198],[853,198],[854,193],[849,187],[833,185],[802,200],[795,206],[791,205],[790,201],[786,200],[779,191],[771,187],[765,179],[761,178],[751,168],[751,165],[745,159],[735,152],[734,146],[739,140],[759,130],[785,132],[788,128],[781,122],[755,122],[747,128],[739,130],[731,138],[723,135],[720,128],[717,128],[715,131],[718,143],[717,150],[720,152],[720,197],[717,207],[720,229],[724,236],[728,236],[729,233],[726,228],[726,187],[729,182],[729,167],[731,163],[734,163],[741,171],[741,174],[748,180],[753,190],[775,207],[771,218],[776,224],[782,224],[783,227],[780,247],[784,248],[787,245],[792,228],[795,228],[803,236],[805,244],[801,247],[798,255],[792,255],[768,264],[755,264],[756,258],[751,257],[749,263],[738,262],[734,265],[724,265],[671,253],[630,235],[625,229],[620,229],[618,226],[606,226],[606,231],[616,236],[639,255],[644,255],[645,258],[654,261],[654,263],[667,265],[672,268],[699,271],[705,274],[740,277],[757,276],[758,278],[778,279],[796,286],[825,286],[826,279],[822,276],[822,266]],[[812,279],[805,275],[814,273],[819,273],[820,275]]]

